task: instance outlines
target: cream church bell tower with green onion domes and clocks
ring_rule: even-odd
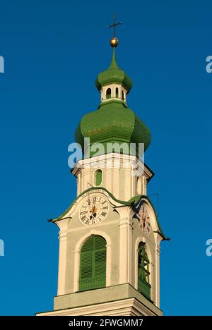
[[[133,83],[117,65],[115,35],[110,44],[110,67],[95,82],[100,105],[76,128],[77,196],[52,219],[59,227],[54,310],[39,316],[163,314],[160,242],[168,238],[147,193],[153,171],[140,157],[151,133],[127,104]]]

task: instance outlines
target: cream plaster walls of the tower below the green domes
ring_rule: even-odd
[[[106,159],[103,157],[99,158],[102,165],[108,159],[112,160],[112,164],[114,164],[117,154],[107,155]],[[113,306],[113,312],[110,310],[111,315],[160,315],[162,314],[160,311],[160,241],[163,240],[163,237],[158,232],[158,222],[155,212],[148,200],[143,200],[146,203],[146,208],[151,219],[151,233],[146,236],[141,231],[141,228],[139,228],[139,222],[136,219],[136,210],[129,205],[124,206],[122,202],[119,202],[119,200],[126,201],[137,195],[137,178],[136,176],[131,176],[131,168],[133,168],[136,159],[122,155],[121,165],[117,169],[112,167],[110,172],[108,172],[108,169],[104,169],[103,166],[98,166],[98,169],[102,169],[103,173],[101,184],[103,189],[96,187],[83,193],[83,191],[88,189],[87,183],[92,182],[93,171],[96,170],[92,166],[90,167],[90,164],[88,166],[89,160],[80,161],[81,166],[78,164],[73,170],[78,183],[78,198],[68,212],[61,219],[56,219],[55,221],[57,226],[59,226],[59,272],[58,292],[57,297],[54,298],[55,312],[47,312],[39,315],[108,315],[109,306]],[[126,161],[128,161],[129,166],[125,168],[124,162]],[[139,189],[141,189],[143,195],[146,195],[146,183],[151,178],[152,173],[141,161],[137,161],[136,165],[138,164],[143,169],[143,174],[141,175],[142,185]],[[123,190],[120,188],[121,184]],[[114,200],[114,197],[104,190],[104,188],[109,191],[112,190],[111,193],[114,193],[114,197],[117,200]],[[94,195],[106,197],[110,204],[110,209],[107,217],[100,224],[85,226],[80,221],[78,212],[83,202],[88,197],[90,198]],[[90,235],[100,235],[107,242],[106,288],[92,290],[90,294],[92,293],[93,296],[93,306],[89,305],[89,301],[91,300],[88,300],[88,306],[84,307],[85,297],[88,299],[89,293],[88,291],[78,292],[79,260],[81,246]],[[152,302],[148,302],[137,291],[138,246],[140,242],[146,244],[146,252],[150,259]],[[126,284],[134,289],[134,293],[136,292],[135,299],[129,299],[131,297],[126,294],[119,302],[112,304],[111,299],[114,298],[114,300],[117,300],[116,297],[119,296],[120,286],[125,286]],[[106,289],[108,290],[109,288],[112,291],[107,296]],[[104,302],[100,298],[99,290],[105,290]],[[73,302],[74,295],[78,297],[76,305],[74,306],[72,303],[67,305],[67,300],[64,300],[64,297],[70,296]],[[67,299],[69,300],[69,298]],[[144,305],[142,302],[143,299],[145,300]],[[146,304],[148,307],[146,307]]]

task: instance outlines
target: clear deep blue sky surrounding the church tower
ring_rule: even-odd
[[[97,109],[96,75],[117,62],[134,81],[128,104],[151,129],[165,315],[211,314],[211,1],[0,0],[0,314],[52,310],[58,231],[47,219],[76,196],[67,148]]]

